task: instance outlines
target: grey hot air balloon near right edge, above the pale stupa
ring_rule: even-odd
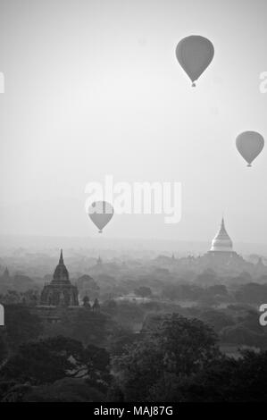
[[[264,139],[256,131],[244,131],[237,137],[236,146],[240,155],[246,160],[247,166],[251,166],[254,158],[263,150]]]

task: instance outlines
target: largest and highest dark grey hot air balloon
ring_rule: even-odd
[[[212,42],[199,35],[191,35],[179,41],[176,47],[176,57],[181,67],[186,71],[196,86],[196,80],[212,62],[214,47]]]

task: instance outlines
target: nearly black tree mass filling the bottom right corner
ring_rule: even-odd
[[[221,357],[176,385],[171,401],[265,402],[267,351],[242,351],[238,359]]]

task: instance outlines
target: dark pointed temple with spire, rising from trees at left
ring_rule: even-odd
[[[78,289],[71,284],[69,272],[64,265],[63,250],[61,250],[59,263],[55,267],[53,280],[46,284],[42,293],[40,304],[54,307],[78,307]]]

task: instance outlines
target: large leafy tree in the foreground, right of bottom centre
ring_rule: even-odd
[[[147,330],[143,340],[113,357],[113,369],[125,399],[144,401],[150,400],[155,383],[164,382],[170,375],[193,374],[217,357],[217,336],[209,326],[169,314]]]

